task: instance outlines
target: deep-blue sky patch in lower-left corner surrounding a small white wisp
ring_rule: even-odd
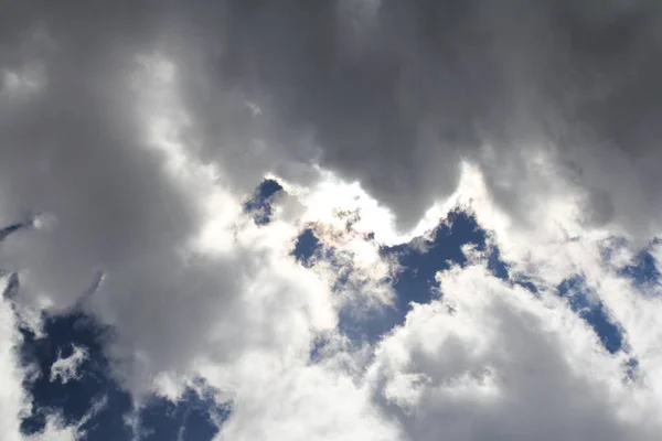
[[[39,377],[28,379],[25,389],[32,396],[33,412],[23,419],[26,434],[43,430],[49,413],[60,415],[66,424],[77,424],[95,406],[105,401],[84,429],[90,440],[128,439],[130,429],[122,420],[131,409],[130,396],[109,376],[109,363],[103,346],[110,330],[79,311],[64,315],[47,315],[43,320],[45,336],[38,338],[29,330],[21,330],[22,361],[38,368]],[[51,381],[51,368],[58,358],[73,353],[74,346],[87,352],[78,367],[79,378],[66,384]]]

